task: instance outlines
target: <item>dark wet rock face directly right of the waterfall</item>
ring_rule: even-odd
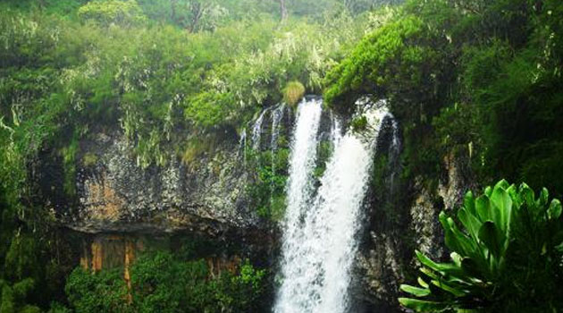
[[[475,190],[467,160],[453,154],[444,157],[443,175],[435,184],[424,183],[423,177],[411,182],[399,179],[399,159],[392,157],[393,136],[389,129],[383,131],[374,165],[374,175],[382,179],[370,186],[366,228],[354,269],[357,312],[402,311],[399,285],[413,283],[418,275],[414,250],[447,258],[438,215],[461,205],[466,190]],[[378,160],[386,165],[378,167]]]

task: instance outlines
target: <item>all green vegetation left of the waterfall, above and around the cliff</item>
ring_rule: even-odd
[[[164,165],[172,157],[189,165],[213,145],[214,136],[242,131],[262,107],[320,93],[325,72],[361,38],[369,21],[365,12],[377,5],[370,0],[0,3],[0,311],[46,310],[53,300],[58,309],[86,311],[78,298],[108,300],[110,306],[92,302],[90,309],[122,309],[123,303],[111,301],[123,296],[119,271],[70,275],[78,261],[72,253],[76,239],[55,226],[54,211],[42,207],[34,170],[42,157],[62,165],[63,187],[52,191],[69,206],[75,203],[78,166],[97,159],[81,152],[80,140],[97,131],[122,131],[140,167]],[[256,173],[256,186],[248,187],[255,199],[272,199],[254,204],[261,216],[280,216],[288,153],[283,140],[276,171],[265,167]],[[273,164],[267,153],[253,159]],[[188,265],[178,266],[183,271]],[[240,301],[253,298],[228,283],[236,279],[221,278],[216,288],[206,284],[197,295],[221,297],[216,302],[223,307],[201,304],[192,310],[246,310],[237,309]],[[97,293],[108,283],[115,285],[114,293]],[[166,293],[185,286],[162,288]],[[181,297],[188,309],[189,295]],[[139,311],[155,310],[145,307],[147,297],[133,294],[133,302],[143,306]]]

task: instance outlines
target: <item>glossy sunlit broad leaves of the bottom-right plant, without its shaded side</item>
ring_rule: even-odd
[[[530,232],[537,232],[534,230],[538,227],[553,229],[550,239],[537,243],[541,250],[537,253],[563,251],[562,207],[558,199],[551,200],[548,206],[548,196],[543,189],[535,198],[525,183],[517,188],[504,180],[485,188],[476,199],[471,191],[467,192],[457,221],[445,212],[439,216],[445,243],[453,251],[451,262],[437,263],[416,251],[424,276],[418,278],[419,287],[401,285],[401,290],[415,299],[399,298],[399,303],[416,312],[466,312],[479,310],[501,297],[505,292],[501,282],[508,275],[508,251],[515,241],[514,227],[521,229],[525,224]]]

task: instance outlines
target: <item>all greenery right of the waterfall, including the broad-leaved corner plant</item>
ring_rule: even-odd
[[[450,154],[483,185],[508,177],[560,197],[562,13],[549,0],[408,1],[329,72],[325,99],[343,112],[355,109],[350,97],[388,99],[403,127],[402,183],[435,186]],[[400,302],[420,312],[559,311],[560,205],[546,190],[538,197],[500,182],[468,194],[457,219],[442,213],[452,262],[417,252],[420,287],[403,290],[418,299]]]

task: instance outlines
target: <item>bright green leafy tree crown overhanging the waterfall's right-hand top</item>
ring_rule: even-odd
[[[387,89],[407,92],[403,97],[408,97],[414,92],[410,88],[431,77],[435,52],[428,46],[432,40],[423,21],[413,15],[383,25],[328,74],[325,99],[342,106],[347,97],[382,94]]]

